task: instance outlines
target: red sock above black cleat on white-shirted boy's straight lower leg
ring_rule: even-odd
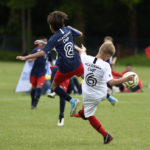
[[[107,132],[105,131],[105,129],[103,128],[103,126],[101,125],[101,123],[98,121],[98,119],[95,116],[90,116],[88,120],[91,126],[95,128],[100,134],[102,134],[103,137],[107,135]]]

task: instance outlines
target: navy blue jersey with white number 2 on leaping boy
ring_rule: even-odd
[[[57,65],[60,72],[67,73],[75,70],[81,64],[78,52],[74,49],[73,36],[80,36],[80,32],[67,26],[59,29],[51,36],[44,47],[47,53],[55,48],[58,53]]]

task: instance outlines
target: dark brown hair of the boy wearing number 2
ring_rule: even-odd
[[[61,11],[53,11],[47,16],[47,23],[57,31],[64,26],[64,21],[68,19],[68,15]]]

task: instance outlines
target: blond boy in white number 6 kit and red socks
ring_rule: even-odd
[[[81,55],[84,65],[84,82],[82,85],[83,108],[75,114],[75,117],[81,117],[88,120],[104,137],[104,144],[109,143],[113,137],[105,131],[99,120],[94,116],[97,105],[106,98],[107,83],[110,85],[120,84],[133,80],[134,76],[128,76],[121,79],[113,79],[110,65],[105,62],[114,53],[115,47],[112,42],[104,42],[99,48],[96,57],[86,55],[86,48],[76,47]]]

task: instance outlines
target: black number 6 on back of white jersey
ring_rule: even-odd
[[[96,83],[97,83],[97,79],[94,78],[93,73],[87,74],[85,77],[85,81],[86,81],[86,84],[91,87],[96,86]]]

